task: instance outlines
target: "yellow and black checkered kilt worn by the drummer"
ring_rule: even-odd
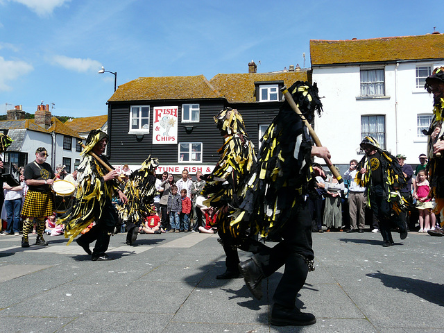
[[[28,191],[22,208],[22,216],[44,218],[54,212],[52,192]]]

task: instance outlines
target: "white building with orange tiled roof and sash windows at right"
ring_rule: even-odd
[[[332,162],[345,171],[351,159],[361,159],[359,143],[371,135],[418,164],[426,151],[421,130],[432,119],[425,78],[444,65],[444,34],[311,40],[310,55],[313,82],[325,97],[315,130]]]

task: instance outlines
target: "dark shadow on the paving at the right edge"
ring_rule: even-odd
[[[386,287],[398,289],[404,293],[413,293],[424,300],[444,307],[444,284],[388,275],[379,271],[369,273],[367,276],[381,280]]]

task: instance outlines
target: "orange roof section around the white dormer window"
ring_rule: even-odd
[[[278,73],[217,74],[210,83],[219,94],[230,103],[250,103],[256,101],[255,82],[284,81],[290,87],[296,81],[307,81],[307,71],[288,71]]]

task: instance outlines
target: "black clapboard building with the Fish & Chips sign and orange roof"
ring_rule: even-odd
[[[134,170],[151,155],[159,159],[157,173],[210,173],[223,144],[214,116],[227,107],[239,110],[257,151],[283,103],[280,88],[298,80],[311,83],[311,73],[141,77],[120,85],[108,100],[110,162]]]

